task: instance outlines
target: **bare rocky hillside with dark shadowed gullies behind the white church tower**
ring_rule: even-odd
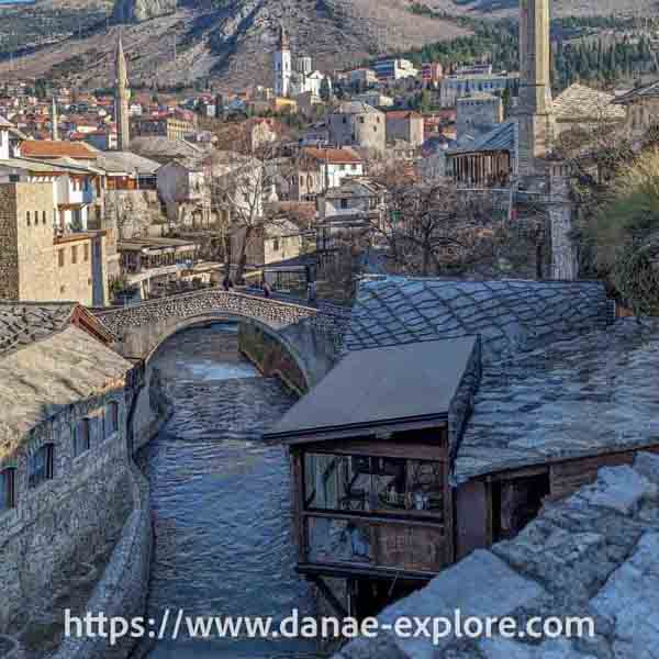
[[[48,8],[63,0],[46,0]],[[67,0],[68,2],[69,0]],[[271,83],[271,52],[286,23],[295,54],[309,54],[324,70],[366,57],[454,38],[466,31],[450,21],[420,18],[406,0],[205,0],[176,13],[123,25],[131,80],[149,86],[189,83],[206,77],[239,89]],[[2,21],[0,20],[0,31]],[[100,21],[34,54],[0,63],[0,76],[69,75],[71,81],[105,87],[119,26]],[[175,42],[177,57],[174,58]]]

